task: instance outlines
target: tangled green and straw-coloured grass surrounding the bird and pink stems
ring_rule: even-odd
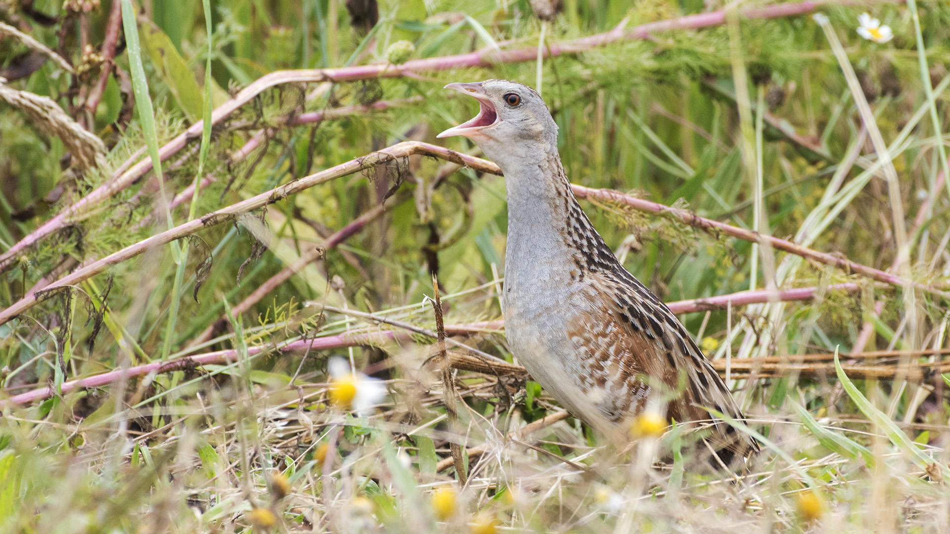
[[[104,42],[111,3],[35,2],[50,27],[0,11],[77,72],[47,62],[14,79],[29,49],[14,36],[0,41],[6,84],[91,117],[110,151],[85,173],[54,163],[68,128],[0,104],[0,252],[17,247],[0,262],[5,531],[945,529],[945,4],[831,2],[823,24],[744,4],[643,39],[637,25],[731,6],[565,0],[542,22],[525,1],[382,2],[361,26],[339,0],[115,1],[129,48],[91,115],[102,66],[79,50]],[[894,40],[859,37],[864,11]],[[621,21],[639,29],[557,48]],[[366,67],[483,47],[507,55]],[[365,72],[242,93],[212,125],[241,86],[324,66]],[[464,140],[397,144],[470,117],[446,83],[492,77],[543,88],[567,175],[593,188],[578,189],[585,211],[635,276],[684,301],[749,415],[731,424],[763,444],[745,472],[695,468],[701,429],[599,435],[512,361],[504,178]],[[241,215],[207,219],[218,210]],[[173,219],[162,244],[146,240]],[[334,356],[352,378],[328,375]],[[349,380],[387,394],[359,414],[340,400]]]

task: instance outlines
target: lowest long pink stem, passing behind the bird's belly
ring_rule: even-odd
[[[355,221],[354,221],[355,222]],[[341,234],[341,229],[337,234]],[[329,241],[329,239],[328,239]],[[818,288],[805,287],[794,288],[783,291],[743,291],[732,295],[712,296],[709,298],[694,298],[691,300],[680,300],[667,304],[675,314],[688,314],[691,312],[702,312],[711,309],[723,309],[727,302],[733,305],[757,304],[771,300],[807,300],[815,295]],[[858,291],[858,284],[844,283],[829,285],[826,291]],[[501,320],[482,321],[475,323],[465,323],[456,325],[446,325],[446,333],[450,335],[477,334],[483,332],[499,332],[504,329],[504,322]],[[294,353],[303,351],[326,351],[331,349],[342,349],[346,347],[356,347],[364,345],[380,345],[390,342],[394,339],[409,340],[409,333],[397,331],[378,331],[363,334],[339,334],[328,335],[326,337],[316,337],[312,340],[300,340],[288,343],[277,349],[280,353]],[[272,349],[272,346],[249,347],[247,353],[249,356],[266,352]],[[222,364],[235,361],[237,351],[218,351],[215,353],[202,353],[194,356],[183,356],[167,362],[155,362],[126,370],[117,370],[96,374],[86,378],[69,380],[63,383],[63,393],[74,391],[78,388],[98,388],[111,384],[123,378],[132,376],[142,376],[150,373],[172,372],[188,369],[190,367],[209,364]],[[26,391],[18,395],[13,395],[6,401],[0,401],[0,409],[8,404],[27,404],[29,402],[48,398],[53,395],[51,388],[44,387],[36,390]]]

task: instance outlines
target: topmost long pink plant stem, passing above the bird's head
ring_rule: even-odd
[[[799,15],[820,8],[825,5],[827,0],[776,4],[765,8],[756,8],[743,10],[742,14],[750,19],[766,19],[775,17],[785,17]],[[542,50],[545,57],[560,56],[562,54],[576,54],[591,48],[603,47],[622,41],[645,39],[656,32],[683,29],[701,29],[712,26],[722,25],[725,21],[725,10],[713,11],[710,13],[700,13],[687,15],[671,20],[657,21],[640,26],[623,29],[618,27],[606,33],[599,33],[583,37],[567,43],[552,44],[550,47]],[[448,70],[453,68],[470,67],[493,67],[499,63],[521,63],[525,61],[536,61],[538,58],[538,48],[518,48],[514,50],[496,51],[493,49],[482,49],[466,54],[457,54],[452,56],[442,56],[426,59],[417,59],[409,61],[403,65],[361,65],[353,67],[339,68],[308,68],[299,70],[278,70],[265,74],[237,93],[235,98],[220,105],[212,113],[212,123],[218,124],[239,107],[247,104],[262,91],[283,84],[307,84],[318,82],[352,82],[356,80],[367,80],[372,78],[397,78],[414,72],[431,72],[439,70]],[[168,159],[178,152],[190,140],[199,139],[201,136],[202,122],[192,124],[187,130],[178,137],[165,144],[159,150],[159,157],[162,161]],[[16,244],[10,247],[10,250],[0,255],[0,273],[6,272],[15,261],[15,258],[22,254],[27,247],[45,238],[49,234],[63,228],[72,220],[82,219],[83,214],[92,206],[102,202],[119,191],[122,191],[135,181],[139,180],[145,173],[152,168],[152,162],[145,158],[135,163],[124,173],[116,173],[111,179],[89,192],[83,199],[76,201],[57,214],[52,219],[47,220],[39,228],[33,230],[27,237],[20,239]]]

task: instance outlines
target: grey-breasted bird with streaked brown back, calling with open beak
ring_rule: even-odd
[[[437,137],[463,136],[505,178],[508,229],[502,312],[512,355],[562,407],[618,435],[648,410],[701,428],[705,465],[744,465],[749,433],[712,416],[745,416],[693,337],[631,275],[574,196],[558,124],[542,96],[508,80],[445,86],[474,97],[478,114]],[[705,447],[704,447],[705,446]]]

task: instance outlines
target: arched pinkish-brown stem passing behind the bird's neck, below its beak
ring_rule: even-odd
[[[436,146],[429,143],[421,143],[416,141],[407,141],[404,143],[396,143],[392,146],[380,150],[378,152],[372,152],[371,154],[352,160],[351,162],[342,163],[331,167],[329,169],[320,171],[316,174],[301,178],[297,181],[291,181],[271,191],[267,191],[252,197],[247,200],[242,200],[225,208],[219,209],[216,212],[209,213],[200,219],[189,220],[175,228],[171,228],[158,234],[152,236],[151,238],[144,239],[135,244],[129,245],[119,252],[113,253],[107,257],[99,259],[83,268],[77,269],[72,274],[61,278],[59,281],[51,284],[49,289],[54,289],[56,287],[66,287],[69,285],[74,285],[82,282],[90,277],[94,277],[102,272],[104,272],[108,267],[121,263],[126,259],[131,257],[136,257],[142,254],[144,251],[149,248],[161,246],[176,239],[189,236],[201,230],[202,228],[208,226],[214,226],[220,224],[221,222],[232,220],[238,215],[248,213],[252,210],[255,210],[259,207],[273,204],[277,200],[282,200],[287,198],[290,195],[303,191],[318,185],[325,183],[327,181],[335,180],[341,176],[347,176],[355,172],[359,172],[363,169],[373,168],[380,164],[387,164],[389,162],[397,161],[400,158],[413,156],[417,154],[425,154],[428,156],[433,156],[435,158],[440,158],[446,160],[447,162],[458,163],[462,165],[469,166],[473,169],[487,172],[491,174],[501,175],[502,171],[498,168],[493,162],[488,162],[482,160],[481,158],[476,158],[474,156],[469,156],[465,153],[456,152],[450,150],[444,146]],[[699,228],[711,232],[722,232],[733,238],[745,239],[752,242],[762,242],[768,241],[772,247],[783,250],[790,254],[795,254],[801,257],[806,257],[820,263],[825,263],[826,265],[831,265],[839,269],[845,270],[845,272],[857,273],[864,277],[870,277],[875,280],[897,285],[897,286],[906,286],[913,285],[923,291],[929,293],[944,296],[950,298],[950,295],[920,284],[918,282],[913,282],[910,280],[904,280],[901,277],[896,277],[889,273],[885,273],[881,270],[874,269],[873,267],[867,267],[860,263],[856,263],[844,257],[835,257],[830,254],[823,252],[818,252],[811,250],[807,247],[792,243],[786,239],[772,238],[770,236],[761,236],[750,230],[745,230],[742,228],[737,228],[731,226],[724,222],[719,222],[717,220],[705,219],[699,217],[693,212],[688,210],[679,209],[670,207],[664,204],[659,204],[656,202],[651,202],[650,200],[637,199],[636,197],[631,197],[629,195],[624,195],[618,191],[613,191],[610,189],[592,189],[590,187],[584,187],[583,185],[572,184],[571,188],[574,190],[574,194],[581,199],[597,199],[601,201],[609,201],[620,204],[626,204],[633,208],[636,208],[641,211],[647,211],[652,213],[658,213],[673,217],[674,219],[679,219],[685,224],[689,224],[694,228]],[[16,301],[6,310],[0,312],[0,324],[5,324],[10,321],[16,315],[20,315],[26,312],[29,308],[37,303],[36,294],[28,294],[20,300]]]

